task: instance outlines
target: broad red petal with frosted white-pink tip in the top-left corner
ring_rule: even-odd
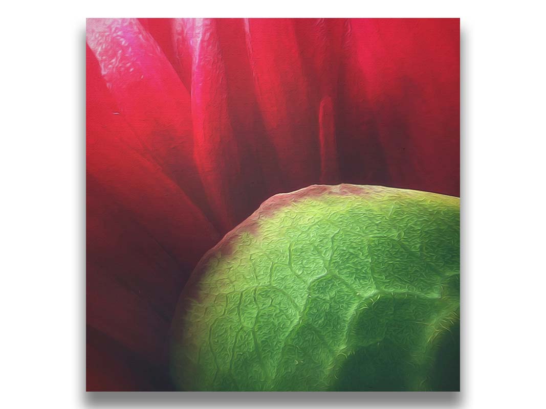
[[[124,142],[207,212],[193,160],[189,93],[156,41],[135,19],[89,19],[87,43],[133,130]]]

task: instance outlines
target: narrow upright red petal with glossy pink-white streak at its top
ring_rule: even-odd
[[[175,27],[176,32],[191,38],[194,158],[209,206],[222,231],[227,232],[245,217],[248,201],[240,199],[245,181],[227,107],[227,79],[216,21],[176,19]]]

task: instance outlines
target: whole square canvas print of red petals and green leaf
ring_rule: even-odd
[[[459,390],[459,19],[88,19],[87,390]]]

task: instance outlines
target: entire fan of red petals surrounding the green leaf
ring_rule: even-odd
[[[170,389],[206,250],[314,183],[459,196],[458,19],[90,19],[87,389]]]

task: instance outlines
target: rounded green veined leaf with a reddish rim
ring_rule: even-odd
[[[171,371],[183,390],[458,390],[459,199],[271,197],[195,269]]]

